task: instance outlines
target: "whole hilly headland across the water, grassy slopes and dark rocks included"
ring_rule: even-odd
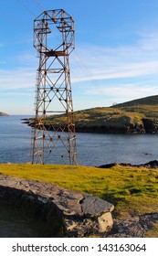
[[[82,110],[74,112],[74,116],[76,131],[80,133],[158,133],[158,95]],[[52,115],[47,117],[46,126],[48,123],[65,129],[67,118],[63,114]]]

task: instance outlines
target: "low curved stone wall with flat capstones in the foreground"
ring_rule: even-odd
[[[99,197],[48,183],[12,176],[0,176],[0,197],[23,199],[53,208],[63,220],[68,237],[105,234],[113,225],[113,205]]]

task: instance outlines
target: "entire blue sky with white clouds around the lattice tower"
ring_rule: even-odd
[[[0,9],[0,112],[34,114],[33,20],[64,9],[75,20],[74,110],[158,94],[158,0],[5,0]]]

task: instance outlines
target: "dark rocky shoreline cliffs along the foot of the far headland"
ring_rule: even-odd
[[[90,119],[90,121],[83,121],[76,119],[75,130],[78,133],[158,133],[158,119],[157,118],[142,118],[139,120],[134,120],[128,115],[121,114],[120,116],[112,117],[116,112],[111,113],[111,117],[105,116],[101,117],[101,114],[97,119]],[[22,119],[23,123],[28,124],[28,126],[35,127],[35,120],[32,118]],[[59,120],[59,118],[58,118]],[[57,122],[58,123],[58,122]],[[58,124],[52,119],[51,122],[45,123],[45,128],[54,131],[58,129]],[[66,123],[63,123],[63,129],[66,129]],[[65,130],[67,131],[67,130]]]

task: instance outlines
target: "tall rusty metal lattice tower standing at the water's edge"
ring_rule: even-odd
[[[57,163],[60,157],[78,164],[68,58],[74,34],[74,20],[63,9],[45,11],[34,21],[39,66],[32,164]]]

